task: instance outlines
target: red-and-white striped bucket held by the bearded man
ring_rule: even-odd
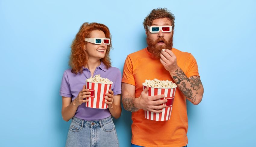
[[[146,86],[143,85],[143,90],[146,88]],[[161,113],[154,113],[151,111],[145,111],[145,118],[149,120],[155,120],[155,121],[166,121],[170,120],[171,117],[171,112],[173,108],[173,101],[174,101],[174,96],[176,92],[176,87],[175,88],[153,88],[149,87],[148,90],[148,96],[157,96],[164,94],[166,97],[161,98],[159,100],[167,99],[167,102],[164,103],[166,104],[167,107],[163,108],[163,111]],[[161,104],[163,105],[163,104]]]

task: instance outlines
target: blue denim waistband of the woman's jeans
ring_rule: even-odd
[[[82,128],[83,127],[92,128],[92,127],[99,127],[99,126],[102,128],[102,126],[113,122],[113,119],[111,116],[109,116],[109,117],[107,117],[105,119],[101,119],[101,120],[87,121],[87,120],[79,119],[74,116],[72,118],[72,122],[76,123],[77,125],[80,125]]]

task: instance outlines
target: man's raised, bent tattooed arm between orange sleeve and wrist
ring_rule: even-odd
[[[187,78],[180,67],[178,67],[176,71],[170,72],[170,75],[176,82],[180,91],[189,101],[195,105],[201,102],[204,88],[199,76],[191,76]]]

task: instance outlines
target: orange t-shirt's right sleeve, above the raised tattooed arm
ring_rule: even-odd
[[[198,66],[196,63],[195,58],[192,54],[189,54],[188,60],[187,60],[187,74],[186,76],[189,78],[191,76],[199,76],[198,73]]]

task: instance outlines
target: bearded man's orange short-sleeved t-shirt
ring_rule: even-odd
[[[177,64],[187,77],[199,76],[195,58],[188,52],[172,49],[176,55]],[[170,73],[160,60],[153,59],[147,48],[129,54],[123,67],[122,82],[134,85],[135,97],[138,98],[143,90],[145,80],[173,81]],[[174,83],[174,81],[173,81]],[[132,143],[139,146],[180,147],[188,143],[188,117],[186,98],[177,88],[173,102],[170,120],[152,121],[145,118],[144,110],[132,113]]]

